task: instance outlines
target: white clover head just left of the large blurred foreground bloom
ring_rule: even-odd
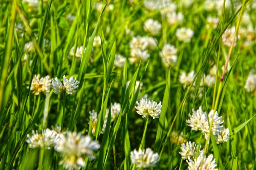
[[[45,147],[49,150],[51,147],[55,146],[59,134],[56,131],[47,128],[46,130],[43,130],[42,134],[38,133],[38,130],[32,130],[32,136],[27,134],[27,138],[26,142],[29,144],[30,148]]]

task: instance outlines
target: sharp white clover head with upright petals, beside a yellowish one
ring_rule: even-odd
[[[53,93],[60,94],[62,92],[66,92],[67,94],[74,94],[76,93],[76,88],[78,88],[79,81],[73,78],[73,76],[70,77],[70,79],[67,79],[65,76],[63,76],[63,85],[61,81],[55,77],[55,79],[52,79],[52,88]]]

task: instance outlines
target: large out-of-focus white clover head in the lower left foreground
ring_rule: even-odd
[[[99,142],[93,141],[90,136],[67,131],[60,134],[55,150],[63,157],[59,164],[63,164],[65,169],[78,170],[85,167],[85,157],[94,158],[93,150],[98,150],[99,147]]]

